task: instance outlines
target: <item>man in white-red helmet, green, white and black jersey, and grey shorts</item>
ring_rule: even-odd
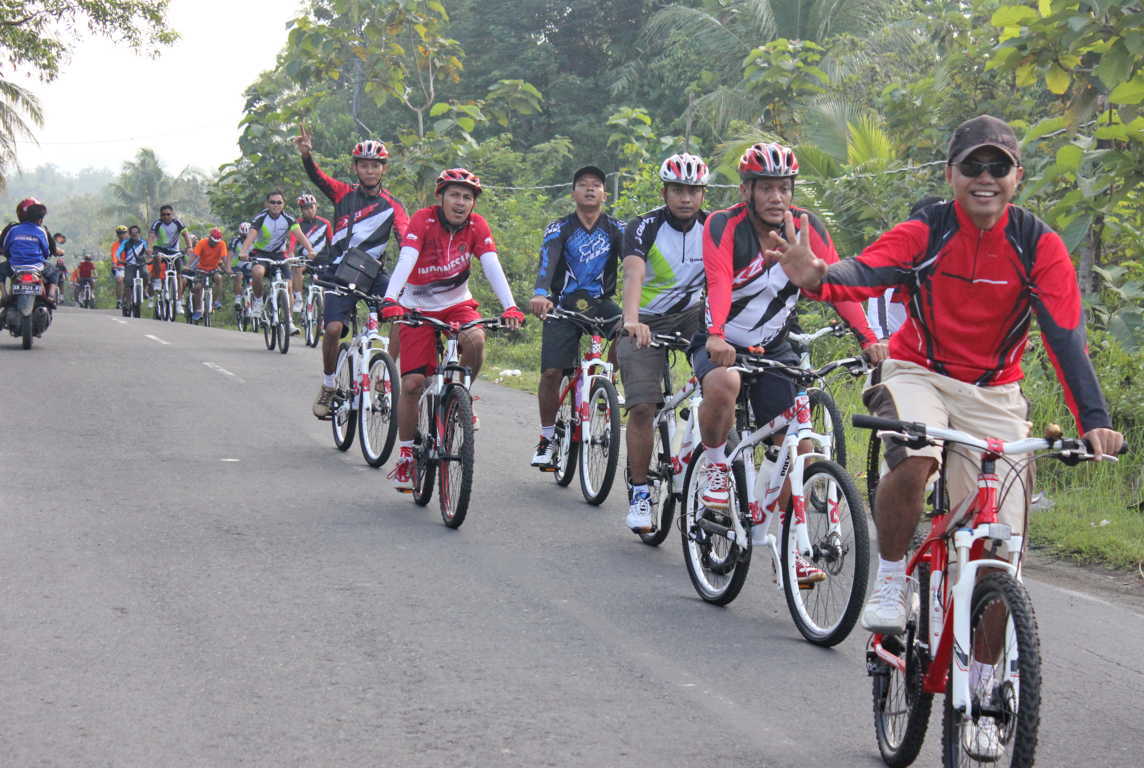
[[[652,419],[664,401],[667,350],[648,345],[653,333],[691,339],[704,327],[704,193],[710,173],[694,155],[673,155],[659,168],[662,206],[623,229],[623,330],[619,341],[623,402],[628,407],[628,528],[652,528],[648,468]]]

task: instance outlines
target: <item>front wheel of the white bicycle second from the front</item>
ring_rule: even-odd
[[[782,521],[782,591],[802,636],[829,647],[850,634],[866,599],[869,533],[861,497],[847,470],[833,461],[807,467],[802,490],[811,552],[799,554],[799,514],[788,510]]]

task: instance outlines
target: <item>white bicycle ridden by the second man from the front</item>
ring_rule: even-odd
[[[730,499],[725,509],[702,504],[700,476],[707,468],[702,445],[696,449],[684,480],[681,532],[688,576],[699,596],[724,605],[738,596],[747,578],[754,544],[771,553],[777,588],[799,632],[816,646],[834,646],[847,638],[858,619],[866,596],[869,537],[861,497],[847,470],[827,453],[829,438],[815,431],[807,387],[828,373],[845,369],[866,373],[860,357],[828,363],[804,371],[750,355],[737,356],[731,370],[744,378],[736,407],[731,450]],[[757,429],[752,429],[749,382],[752,377],[779,374],[799,385],[794,405]],[[788,428],[789,427],[789,428]],[[769,438],[786,429],[782,443]],[[809,440],[815,450],[799,453]],[[730,442],[729,442],[730,444]],[[787,480],[791,501],[779,508]],[[781,544],[770,532],[781,522]],[[802,577],[813,576],[803,584]]]

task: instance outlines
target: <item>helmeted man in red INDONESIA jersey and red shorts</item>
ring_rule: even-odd
[[[524,322],[501,269],[488,223],[474,213],[480,196],[480,179],[464,168],[450,168],[437,176],[437,205],[421,208],[410,220],[402,253],[386,291],[381,314],[397,318],[405,308],[446,323],[464,324],[480,317],[469,292],[474,259],[480,260],[485,279],[505,311],[510,327]],[[398,300],[400,303],[398,303]],[[413,435],[418,425],[418,399],[426,378],[437,370],[437,331],[429,326],[400,326],[402,394],[397,406],[399,454],[390,477],[399,491],[413,488]],[[485,331],[469,328],[460,337],[461,364],[476,381],[485,356]],[[476,414],[474,414],[476,422]]]

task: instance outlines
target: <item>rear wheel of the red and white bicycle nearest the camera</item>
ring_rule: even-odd
[[[925,742],[925,729],[929,727],[930,711],[934,706],[934,694],[928,694],[922,688],[922,680],[929,665],[929,654],[923,647],[929,638],[929,565],[925,563],[919,565],[916,576],[917,595],[921,599],[916,616],[907,619],[905,635],[882,638],[882,644],[887,650],[899,656],[906,650],[901,646],[903,638],[909,643],[906,672],[887,664],[873,654],[867,656],[873,665],[871,689],[874,699],[874,737],[877,739],[882,761],[890,768],[905,768],[917,759]],[[909,604],[913,604],[912,601]],[[913,630],[912,633],[909,627]]]

